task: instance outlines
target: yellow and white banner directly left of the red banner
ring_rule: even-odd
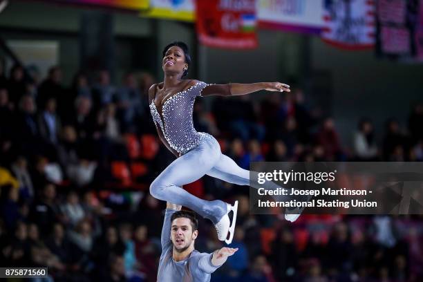
[[[192,22],[195,20],[194,6],[194,0],[150,0],[150,8],[141,16]]]

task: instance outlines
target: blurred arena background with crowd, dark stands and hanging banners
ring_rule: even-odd
[[[422,161],[421,2],[0,1],[1,266],[47,266],[48,281],[156,281],[165,205],[149,185],[173,156],[147,91],[175,40],[191,49],[189,78],[290,84],[196,100],[196,129],[245,169]],[[292,224],[250,214],[247,187],[204,177],[185,189],[240,201],[239,250],[212,281],[423,279],[422,216]],[[196,249],[220,247],[200,220]]]

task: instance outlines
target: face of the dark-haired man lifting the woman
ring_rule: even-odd
[[[191,220],[189,218],[176,218],[172,222],[171,241],[176,252],[184,252],[191,245],[194,245],[198,230],[192,232]]]

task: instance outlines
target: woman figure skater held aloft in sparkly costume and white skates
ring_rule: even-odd
[[[290,92],[290,86],[280,82],[206,84],[182,79],[190,64],[191,57],[185,43],[169,44],[163,50],[164,81],[149,89],[151,115],[160,140],[176,156],[176,160],[151,183],[150,193],[159,200],[188,207],[212,220],[219,240],[229,244],[234,236],[238,202],[232,206],[221,200],[202,200],[181,187],[205,174],[237,185],[250,185],[250,171],[241,169],[234,160],[223,155],[212,135],[194,129],[194,100],[197,96],[245,95],[261,90]],[[228,216],[231,211],[234,212],[232,224]]]

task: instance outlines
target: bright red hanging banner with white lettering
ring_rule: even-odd
[[[196,7],[201,44],[233,49],[257,47],[254,0],[198,0]]]

